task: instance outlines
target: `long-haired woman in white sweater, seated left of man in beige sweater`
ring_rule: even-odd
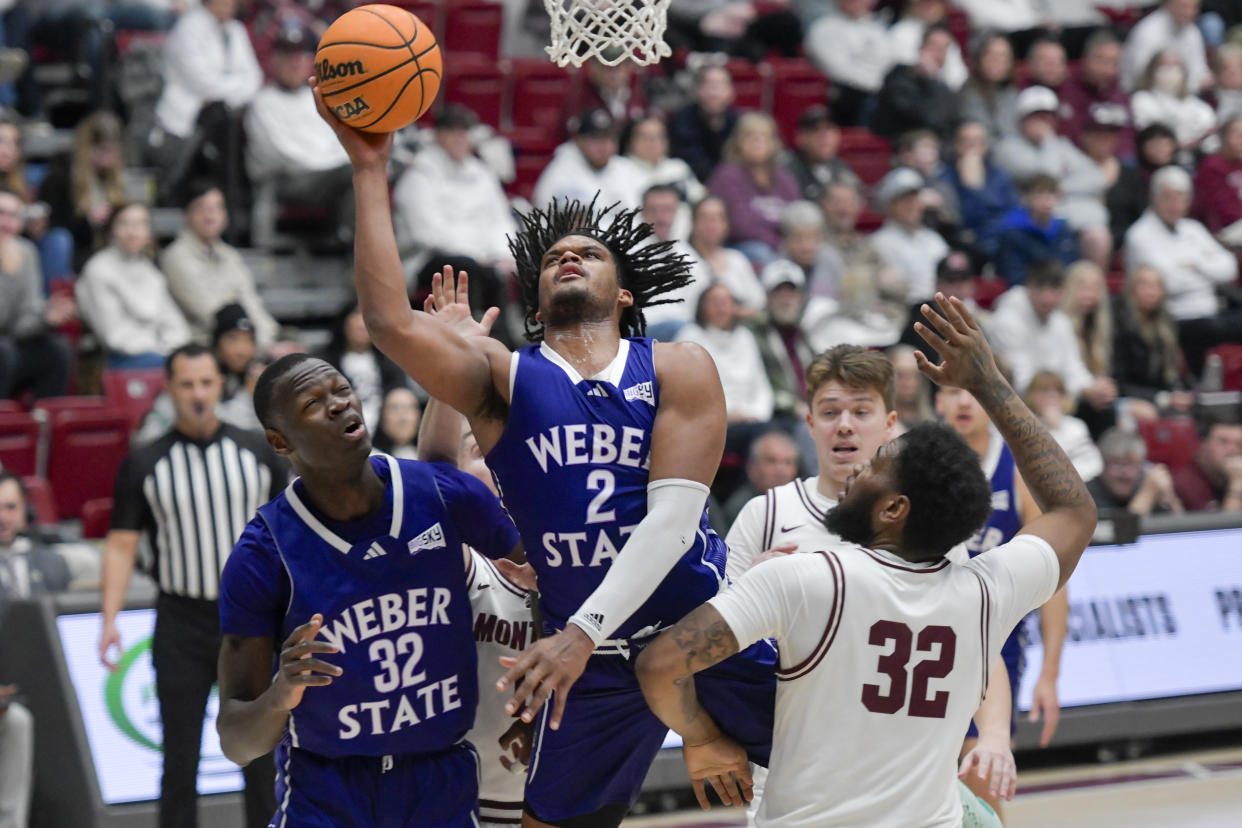
[[[112,243],[87,259],[77,281],[82,318],[107,353],[108,367],[160,367],[190,341],[190,325],[150,257],[147,207],[132,204],[112,215]]]

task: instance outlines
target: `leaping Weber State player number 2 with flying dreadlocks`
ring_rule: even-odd
[[[317,101],[354,168],[354,272],[373,340],[466,416],[539,577],[549,634],[498,684],[513,690],[508,713],[538,718],[523,824],[617,826],[667,732],[632,658],[724,581],[725,545],[705,510],[724,447],[720,380],[702,348],[643,336],[643,308],[684,286],[689,263],[669,242],[646,243],[636,211],[554,202],[510,240],[535,344],[510,353],[466,339],[410,308],[389,210],[391,135],[359,133]],[[700,678],[761,765],[774,660],[759,644]]]

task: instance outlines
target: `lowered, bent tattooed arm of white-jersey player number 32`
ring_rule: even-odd
[[[636,665],[647,704],[682,737],[686,770],[703,808],[708,807],[704,782],[710,782],[725,804],[751,799],[746,751],[720,732],[694,691],[696,673],[737,652],[738,639],[729,624],[715,607],[704,603],[656,638]]]

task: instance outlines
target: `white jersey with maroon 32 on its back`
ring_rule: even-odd
[[[712,600],[741,648],[780,644],[759,826],[956,828],[956,760],[989,665],[1056,590],[1042,539],[966,564],[837,542],[754,567]]]

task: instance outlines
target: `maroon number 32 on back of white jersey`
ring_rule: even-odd
[[[872,713],[894,714],[905,706],[905,667],[910,660],[910,649],[915,644],[914,633],[908,626],[898,621],[877,621],[871,626],[871,637],[867,639],[873,647],[888,647],[892,642],[893,649],[879,657],[876,669],[888,677],[888,691],[884,693],[878,684],[862,685],[862,704]],[[953,670],[953,659],[958,649],[958,637],[951,627],[930,624],[919,631],[917,650],[932,653],[939,646],[935,658],[925,658],[914,665],[909,682],[910,704],[907,715],[922,716],[924,719],[944,719],[945,709],[949,706],[949,693],[940,690],[928,698],[928,682],[943,679]]]

